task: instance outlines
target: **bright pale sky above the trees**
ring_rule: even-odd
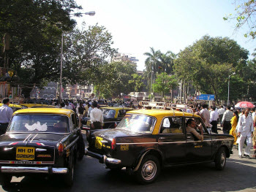
[[[252,54],[255,41],[244,37],[246,28],[234,32],[235,21],[223,17],[235,13],[233,0],[76,0],[80,12],[94,16],[76,18],[78,26],[105,26],[113,36],[113,48],[139,59],[137,69],[145,69],[150,47],[166,53],[179,53],[204,35],[229,37]],[[252,58],[249,57],[249,58]]]

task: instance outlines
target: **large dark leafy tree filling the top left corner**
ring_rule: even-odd
[[[61,33],[75,27],[70,15],[81,8],[74,0],[1,1],[0,66],[14,69],[21,87],[56,78]],[[26,71],[29,79],[22,78]]]

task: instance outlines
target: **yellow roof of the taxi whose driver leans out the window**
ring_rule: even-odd
[[[176,116],[176,117],[197,117],[200,118],[200,116],[189,113],[189,112],[180,112],[176,110],[132,110],[127,113],[136,113],[136,114],[143,114],[143,115],[149,115],[156,118],[165,117],[165,116]]]

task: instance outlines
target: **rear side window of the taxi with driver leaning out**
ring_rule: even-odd
[[[184,134],[182,129],[182,118],[164,118],[164,120],[162,120],[160,134]]]

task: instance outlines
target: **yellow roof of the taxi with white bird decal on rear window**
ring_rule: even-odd
[[[18,110],[13,113],[13,115],[18,115],[18,114],[58,114],[58,115],[67,115],[68,117],[71,116],[72,113],[74,113],[72,110],[66,110],[66,109],[60,109],[60,108],[29,108],[29,109],[23,109],[23,110]]]

